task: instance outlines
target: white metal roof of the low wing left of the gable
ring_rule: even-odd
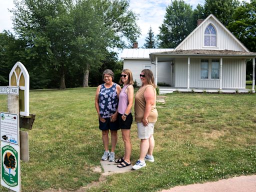
[[[172,51],[173,48],[124,48],[121,54],[122,59],[149,59],[153,52]]]

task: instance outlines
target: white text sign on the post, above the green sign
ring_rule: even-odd
[[[0,112],[1,141],[18,144],[18,115]]]

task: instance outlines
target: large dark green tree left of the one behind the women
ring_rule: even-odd
[[[27,42],[29,57],[41,58],[57,70],[60,88],[65,88],[74,31],[69,14],[72,0],[21,0],[14,4],[14,30]]]

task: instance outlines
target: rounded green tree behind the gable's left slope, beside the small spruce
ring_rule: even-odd
[[[159,47],[177,46],[194,28],[192,7],[183,0],[173,0],[166,8],[158,39]]]

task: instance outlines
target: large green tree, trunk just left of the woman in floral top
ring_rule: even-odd
[[[135,39],[139,28],[128,0],[78,0],[74,11],[75,59],[88,86],[89,71],[98,69],[108,48],[124,47],[123,38]]]

